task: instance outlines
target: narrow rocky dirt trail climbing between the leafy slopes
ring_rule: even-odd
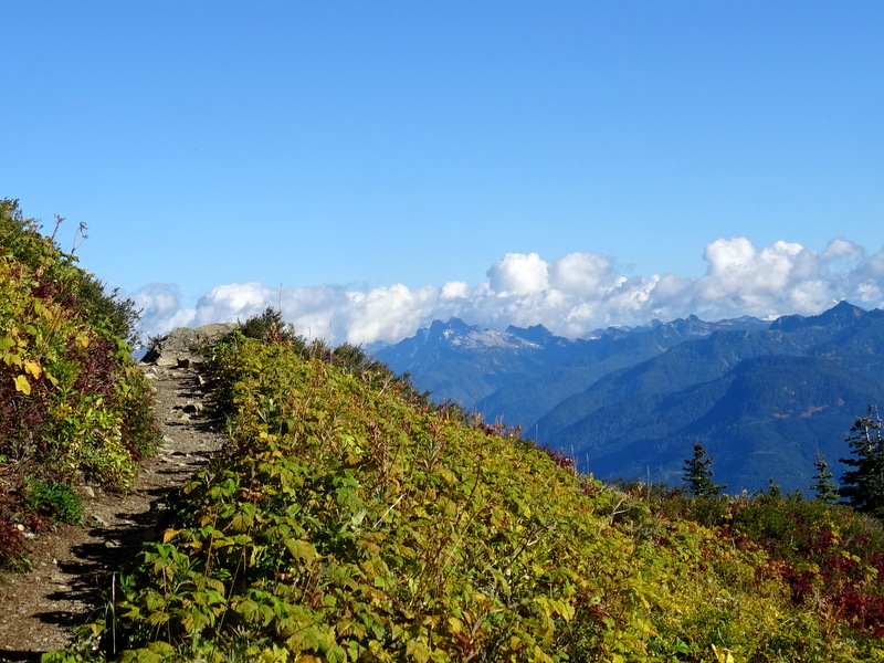
[[[156,535],[160,498],[181,487],[221,448],[209,418],[209,386],[199,364],[141,365],[156,389],[164,444],[126,496],[84,488],[84,526],[62,525],[33,539],[33,570],[0,577],[0,663],[40,661],[64,649],[74,629],[101,611],[98,579]]]

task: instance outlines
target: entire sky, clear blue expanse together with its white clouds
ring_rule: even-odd
[[[0,196],[62,244],[87,223],[82,264],[149,333],[278,302],[355,341],[884,303],[880,2],[0,19]]]

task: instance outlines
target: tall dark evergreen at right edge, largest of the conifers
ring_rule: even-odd
[[[841,477],[841,495],[856,511],[884,518],[884,436],[877,408],[869,407],[845,439],[853,455],[840,459],[853,467]]]

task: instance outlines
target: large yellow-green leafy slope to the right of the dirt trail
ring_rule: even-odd
[[[604,488],[352,348],[280,340],[215,347],[227,453],[114,576],[93,639],[48,661],[884,660],[819,560],[771,562],[727,499]],[[832,582],[873,602],[884,569],[830,544]]]

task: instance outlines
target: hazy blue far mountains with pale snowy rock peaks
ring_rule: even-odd
[[[397,372],[409,372],[436,401],[452,400],[526,430],[562,400],[614,370],[655,357],[684,340],[722,329],[755,329],[755,318],[705,323],[696,316],[635,329],[609,328],[569,340],[540,325],[487,332],[457,318],[434,322],[412,338],[375,350]]]

